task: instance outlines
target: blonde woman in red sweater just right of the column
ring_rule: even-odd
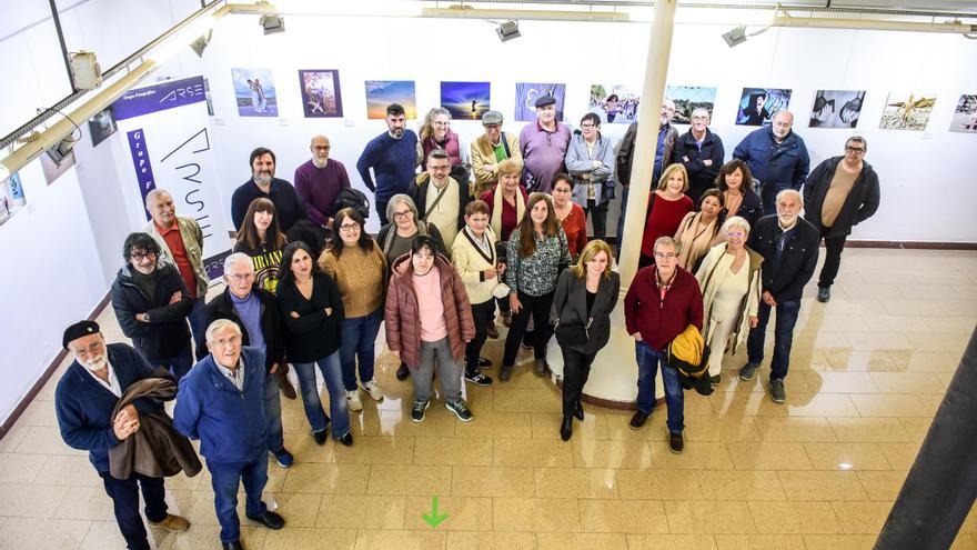
[[[648,216],[645,234],[642,238],[642,253],[638,268],[655,263],[654,248],[658,237],[672,237],[685,214],[695,209],[685,191],[688,190],[688,173],[682,163],[671,164],[658,179],[658,189],[648,201]]]

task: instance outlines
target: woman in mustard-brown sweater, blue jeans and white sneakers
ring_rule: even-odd
[[[363,229],[363,216],[352,208],[336,212],[332,239],[319,258],[319,266],[339,286],[345,318],[342,322],[340,361],[346,406],[363,410],[360,390],[374,401],[383,392],[373,378],[376,358],[376,333],[383,320],[383,297],[386,292],[386,260],[373,237]],[[360,384],[356,386],[356,362]]]

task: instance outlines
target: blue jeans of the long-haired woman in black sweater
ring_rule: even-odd
[[[322,401],[319,399],[319,388],[315,386],[315,364],[322,371],[325,388],[329,390],[329,412],[332,414],[332,437],[340,439],[350,432],[350,413],[346,411],[345,392],[343,391],[343,376],[340,368],[340,354],[334,351],[311,363],[292,363],[295,374],[299,377],[299,388],[302,393],[302,404],[305,407],[305,418],[312,431],[322,431],[329,423],[329,417],[322,410]]]

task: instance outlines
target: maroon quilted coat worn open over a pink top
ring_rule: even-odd
[[[451,354],[455,361],[461,361],[465,354],[465,342],[475,338],[469,294],[461,278],[443,256],[435,256],[433,269],[441,273],[441,301],[444,303]],[[421,364],[421,316],[413,274],[410,253],[394,260],[383,318],[386,321],[387,347],[391,351],[400,351],[401,361],[416,369]]]

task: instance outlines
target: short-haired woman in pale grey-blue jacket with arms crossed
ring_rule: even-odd
[[[607,232],[607,204],[614,198],[614,141],[601,133],[601,117],[588,112],[581,119],[581,133],[566,148],[566,170],[576,183],[573,201],[591,216],[594,239]]]

